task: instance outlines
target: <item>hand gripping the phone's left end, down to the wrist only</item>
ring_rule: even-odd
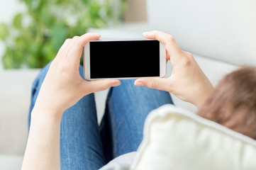
[[[50,65],[34,110],[62,115],[83,96],[121,84],[118,79],[85,81],[79,75],[79,62],[84,45],[90,40],[99,39],[100,36],[97,33],[87,33],[65,40]]]

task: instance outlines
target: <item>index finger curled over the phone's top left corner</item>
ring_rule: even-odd
[[[100,37],[101,35],[98,33],[86,33],[80,37],[74,37],[74,41],[72,42],[67,55],[67,57],[70,59],[69,62],[79,64],[84,45],[86,45],[90,40],[97,40]]]

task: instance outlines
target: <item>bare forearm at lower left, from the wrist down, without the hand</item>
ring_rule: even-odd
[[[60,169],[61,116],[36,111],[31,113],[30,132],[22,170]]]

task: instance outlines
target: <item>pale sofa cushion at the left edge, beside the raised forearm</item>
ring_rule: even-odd
[[[31,86],[38,72],[39,69],[0,71],[0,154],[24,154]]]

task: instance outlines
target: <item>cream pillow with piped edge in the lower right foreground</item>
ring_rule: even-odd
[[[152,111],[132,169],[256,169],[256,142],[171,105]]]

